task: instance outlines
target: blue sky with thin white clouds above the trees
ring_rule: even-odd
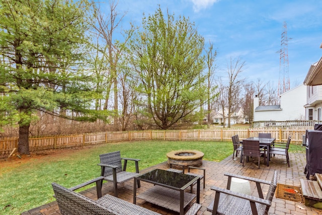
[[[322,56],[322,1],[320,0],[119,0],[117,11],[126,12],[123,27],[140,25],[158,5],[166,13],[189,17],[205,41],[217,49],[217,75],[224,76],[227,62],[245,61],[241,74],[278,85],[281,35],[287,23],[291,88],[303,83],[310,65]]]

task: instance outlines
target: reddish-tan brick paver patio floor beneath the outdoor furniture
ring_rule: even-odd
[[[258,169],[257,160],[251,161],[249,163],[245,163],[245,167],[243,167],[239,163],[239,157],[232,160],[232,155],[226,158],[221,162],[211,162],[211,161],[203,161],[203,168],[206,169],[206,188],[203,189],[203,185],[201,182],[201,191],[200,191],[200,203],[202,207],[198,214],[211,214],[206,210],[209,203],[214,199],[215,192],[210,189],[211,186],[219,186],[222,188],[226,187],[227,177],[224,176],[224,173],[234,173],[238,175],[249,176],[253,178],[260,178],[263,180],[271,180],[273,176],[274,170],[278,171],[278,183],[300,186],[300,179],[305,179],[305,175],[303,173],[305,167],[305,154],[290,154],[290,167],[287,167],[285,156],[273,157],[270,161],[270,166],[267,167],[263,164],[263,160],[261,159],[261,166]],[[168,164],[160,163],[158,165],[149,167],[144,170],[140,170],[140,173],[147,172],[151,169],[159,168],[159,169],[168,169]],[[151,184],[141,182],[141,187],[137,189],[137,193],[143,192],[145,189],[152,186]],[[251,183],[252,187],[252,195],[257,194],[257,189],[255,188],[255,184]],[[119,195],[118,197],[124,199],[129,202],[133,202],[133,180],[125,182],[123,186],[119,185]],[[268,185],[263,187],[264,197],[268,190]],[[187,191],[190,191],[188,188]],[[196,191],[196,186],[194,186],[194,192]],[[111,194],[113,195],[113,185],[112,183],[104,183],[103,184],[103,195]],[[90,198],[96,199],[96,188],[90,188],[82,193]],[[150,210],[156,211],[161,214],[177,214],[171,210],[167,210],[162,207],[155,206],[153,204],[147,203],[143,200],[137,199],[137,204],[148,208]],[[37,208],[33,208],[29,211],[23,212],[23,215],[30,214],[60,214],[59,208],[56,201],[51,202],[49,204],[45,204],[39,206]],[[272,206],[270,207],[269,214],[322,214],[321,209],[316,209],[312,207],[307,207],[303,202],[295,202],[290,200],[284,200],[280,198],[276,198],[274,195]]]

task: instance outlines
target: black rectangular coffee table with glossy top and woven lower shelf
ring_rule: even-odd
[[[155,186],[136,196],[137,180],[152,183]],[[197,194],[185,192],[197,181]],[[184,214],[184,208],[197,197],[200,201],[200,177],[171,172],[167,170],[154,169],[150,172],[134,177],[133,203],[136,204],[136,197],[152,204],[162,206],[180,214]]]

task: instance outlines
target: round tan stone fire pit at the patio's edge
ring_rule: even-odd
[[[177,150],[167,154],[168,164],[200,167],[204,154],[195,150]],[[180,166],[178,166],[180,168]]]

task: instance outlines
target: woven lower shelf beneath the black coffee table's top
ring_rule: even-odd
[[[186,207],[197,195],[184,193],[184,207]],[[152,204],[180,212],[180,191],[155,185],[136,197]]]

